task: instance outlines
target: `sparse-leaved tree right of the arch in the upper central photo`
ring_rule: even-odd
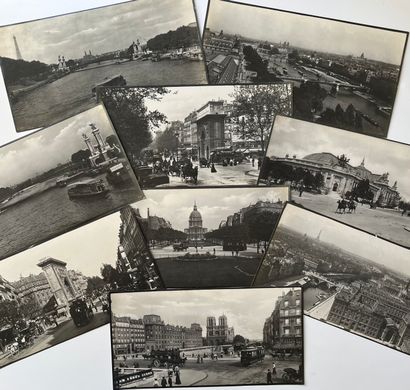
[[[238,135],[258,141],[264,153],[275,116],[291,114],[291,93],[285,84],[235,86],[232,120]],[[239,126],[242,122],[244,126]]]

